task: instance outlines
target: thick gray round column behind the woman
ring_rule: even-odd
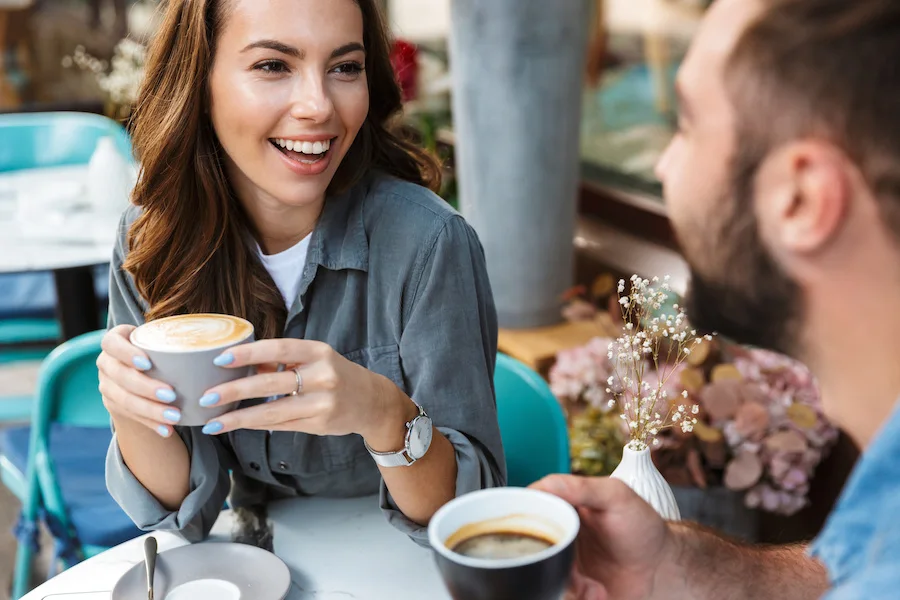
[[[572,285],[590,0],[452,0],[460,208],[501,327],[560,320]]]

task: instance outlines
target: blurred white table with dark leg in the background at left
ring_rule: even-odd
[[[103,327],[92,267],[109,262],[120,216],[87,204],[86,173],[86,165],[0,173],[0,273],[53,273],[64,340]]]

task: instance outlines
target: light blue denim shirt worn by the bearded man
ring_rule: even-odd
[[[826,600],[900,598],[900,402],[863,453],[811,553]]]

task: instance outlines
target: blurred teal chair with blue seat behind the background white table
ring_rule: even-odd
[[[0,173],[87,164],[97,141],[106,136],[114,140],[122,156],[133,157],[131,140],[125,129],[101,115],[80,112],[2,114]],[[31,290],[31,304],[6,306],[3,290],[6,289],[11,297],[17,297],[15,287],[20,280],[26,285],[25,279]],[[52,348],[60,335],[53,313],[50,273],[0,275],[0,362],[22,359],[21,344],[46,343]]]

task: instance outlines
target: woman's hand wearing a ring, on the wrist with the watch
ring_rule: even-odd
[[[378,446],[402,442],[415,405],[389,379],[351,362],[322,342],[292,338],[241,344],[221,354],[223,367],[255,365],[257,374],[216,386],[201,398],[218,406],[250,398],[283,398],[232,411],[204,427],[219,434],[235,429],[301,431],[315,435],[357,433]],[[278,365],[284,365],[279,372]],[[297,390],[297,375],[301,380]],[[405,400],[405,401],[404,401]]]

